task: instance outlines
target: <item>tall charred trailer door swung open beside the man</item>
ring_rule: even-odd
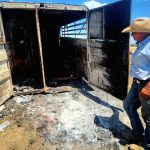
[[[89,81],[123,99],[128,85],[131,0],[122,0],[88,13]]]

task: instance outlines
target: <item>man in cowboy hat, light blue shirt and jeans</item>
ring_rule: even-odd
[[[150,150],[150,18],[137,18],[122,32],[131,32],[137,41],[131,59],[130,76],[133,77],[133,83],[124,100],[124,109],[130,119],[135,140],[141,142],[145,150]],[[140,106],[145,129],[137,112]]]

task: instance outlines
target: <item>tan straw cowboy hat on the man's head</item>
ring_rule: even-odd
[[[140,17],[133,21],[133,23],[126,27],[122,33],[126,32],[144,32],[150,33],[150,18]]]

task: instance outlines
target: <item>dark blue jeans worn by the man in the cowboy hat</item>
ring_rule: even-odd
[[[144,135],[142,146],[145,150],[150,150],[150,99],[145,100],[139,96],[139,91],[143,86],[141,83],[133,82],[123,106],[130,119],[135,138],[139,139]],[[142,106],[142,117],[146,124],[145,130],[137,112],[140,106]]]

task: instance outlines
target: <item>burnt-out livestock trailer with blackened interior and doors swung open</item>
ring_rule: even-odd
[[[14,94],[13,85],[27,79],[46,90],[50,81],[84,77],[124,98],[129,35],[121,31],[130,23],[130,7],[130,0],[93,10],[0,2],[0,104]]]

